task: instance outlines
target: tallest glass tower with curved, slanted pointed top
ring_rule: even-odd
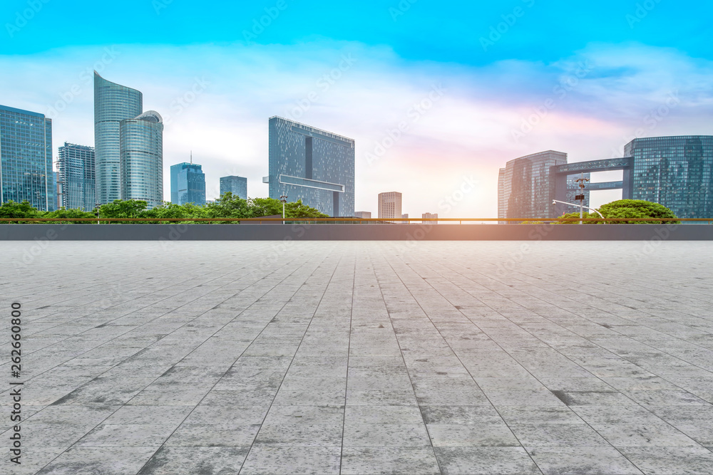
[[[120,124],[143,112],[143,95],[111,83],[94,71],[94,145],[96,147],[96,200],[121,199]]]

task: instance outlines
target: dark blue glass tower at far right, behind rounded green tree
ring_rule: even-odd
[[[632,140],[633,199],[663,204],[679,218],[713,216],[713,136],[647,137]]]

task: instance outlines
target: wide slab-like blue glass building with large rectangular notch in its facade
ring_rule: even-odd
[[[284,118],[270,118],[270,198],[354,216],[354,140]]]

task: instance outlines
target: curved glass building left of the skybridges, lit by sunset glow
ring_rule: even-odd
[[[500,170],[498,218],[545,219],[556,217],[550,187],[550,167],[567,163],[567,154],[548,150],[516,158]]]

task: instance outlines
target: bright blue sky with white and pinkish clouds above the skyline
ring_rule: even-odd
[[[691,0],[5,0],[0,103],[53,118],[56,159],[63,142],[93,145],[93,70],[142,91],[165,119],[167,200],[168,169],[191,152],[208,199],[230,174],[267,196],[279,115],[356,140],[356,211],[398,191],[411,217],[496,217],[508,160],[712,135],[712,13]]]

